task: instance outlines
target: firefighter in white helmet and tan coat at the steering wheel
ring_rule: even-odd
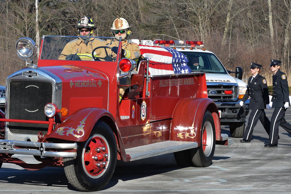
[[[128,25],[128,22],[124,18],[122,17],[117,18],[114,20],[112,24],[111,35],[114,37],[122,37],[121,57],[129,58],[137,62],[139,60],[139,57],[141,56],[141,52],[139,51],[139,45],[129,40],[129,37],[131,35],[131,31],[129,30],[130,27],[131,26]],[[119,44],[119,38],[114,39],[111,43],[107,45],[108,47],[112,47],[111,55],[113,57],[117,56],[118,44]],[[128,85],[130,84],[130,79],[128,77],[124,77],[123,79],[120,79],[120,83],[122,85]],[[129,87],[122,87],[119,89],[119,102],[121,101],[124,95],[124,92],[127,88]]]

